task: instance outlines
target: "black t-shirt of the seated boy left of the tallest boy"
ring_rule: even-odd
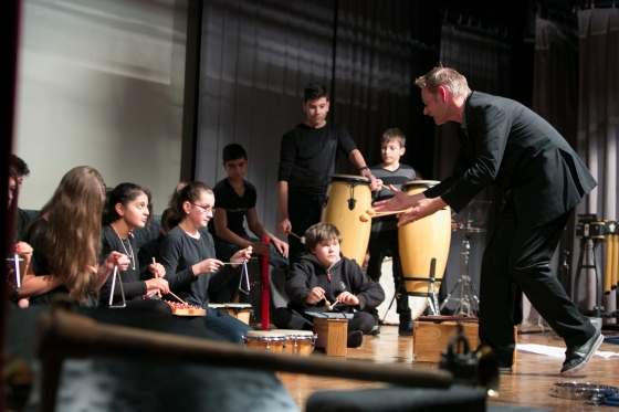
[[[244,219],[248,214],[248,210],[255,208],[258,199],[255,187],[246,180],[243,180],[243,184],[245,186],[245,192],[242,197],[237,193],[228,179],[223,179],[213,188],[216,209],[225,210],[228,229],[241,237],[248,234],[243,225]],[[218,237],[214,231],[216,219],[217,212],[213,220],[209,222],[209,232],[217,240]]]

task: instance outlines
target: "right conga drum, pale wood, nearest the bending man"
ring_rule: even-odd
[[[438,184],[433,180],[411,180],[402,184],[408,196],[417,194]],[[434,266],[434,290],[438,294],[442,279],[449,244],[451,242],[451,209],[448,207],[437,213],[398,228],[398,243],[402,276],[409,298],[412,318],[419,317],[431,296],[430,266]],[[438,308],[437,308],[438,309]]]

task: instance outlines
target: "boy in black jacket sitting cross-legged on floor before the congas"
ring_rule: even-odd
[[[305,247],[310,254],[295,263],[286,282],[291,303],[277,308],[271,321],[280,329],[312,330],[313,316],[308,311],[353,313],[348,319],[349,348],[364,341],[364,334],[374,327],[367,309],[385,300],[382,287],[373,282],[359,265],[339,253],[342,235],[331,223],[318,223],[305,232]]]

